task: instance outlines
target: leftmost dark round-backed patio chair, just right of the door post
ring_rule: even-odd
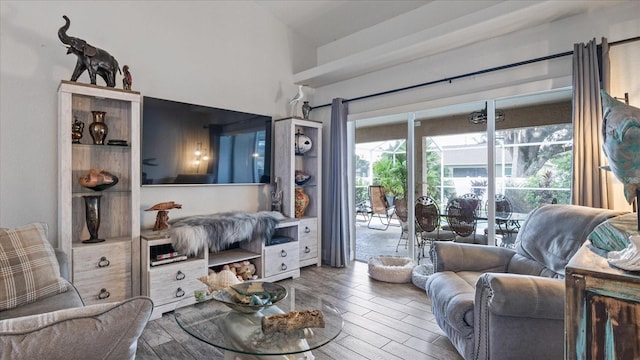
[[[431,196],[416,199],[416,241],[418,242],[418,261],[424,257],[424,248],[433,241],[453,240],[455,234],[440,228],[440,208]]]

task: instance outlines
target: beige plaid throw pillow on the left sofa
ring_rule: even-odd
[[[0,311],[67,291],[47,225],[0,229]]]

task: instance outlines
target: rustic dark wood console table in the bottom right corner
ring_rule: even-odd
[[[589,245],[566,268],[565,359],[640,359],[640,273]]]

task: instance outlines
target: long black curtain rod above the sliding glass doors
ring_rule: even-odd
[[[621,45],[621,44],[625,44],[625,43],[633,42],[633,41],[638,41],[638,40],[640,40],[640,36],[636,36],[636,37],[625,39],[625,40],[610,42],[609,46],[611,47],[611,46]],[[419,88],[419,87],[434,85],[434,84],[443,83],[443,82],[451,83],[453,80],[458,80],[458,79],[462,79],[462,78],[466,78],[466,77],[470,77],[470,76],[476,76],[476,75],[486,74],[486,73],[490,73],[490,72],[494,72],[494,71],[509,69],[509,68],[513,68],[513,67],[517,67],[517,66],[533,64],[533,63],[540,62],[540,61],[556,59],[556,58],[559,58],[559,57],[565,57],[565,56],[569,56],[569,55],[572,55],[572,54],[573,54],[573,50],[565,51],[565,52],[558,53],[558,54],[542,56],[542,57],[535,58],[535,59],[519,61],[519,62],[507,64],[507,65],[496,66],[496,67],[492,67],[492,68],[488,68],[488,69],[484,69],[484,70],[473,71],[473,72],[462,74],[462,75],[456,75],[456,76],[452,76],[452,77],[447,77],[447,78],[443,78],[443,79],[440,79],[440,80],[428,81],[428,82],[424,82],[424,83],[420,83],[420,84],[416,84],[416,85],[410,85],[410,86],[405,86],[405,87],[401,87],[401,88],[397,88],[397,89],[392,89],[392,90],[382,91],[382,92],[378,92],[378,93],[373,93],[373,94],[369,94],[369,95],[358,96],[358,97],[355,97],[353,99],[345,99],[344,102],[348,103],[348,102],[351,102],[351,101],[364,100],[364,99],[368,99],[368,98],[372,98],[372,97],[376,97],[376,96],[389,95],[389,94],[393,94],[393,93],[397,93],[397,92],[401,92],[401,91],[405,91],[405,90],[416,89],[416,88]],[[323,108],[323,107],[327,107],[327,106],[331,106],[331,103],[324,104],[324,105],[318,105],[318,106],[312,106],[311,110],[315,110],[315,109],[319,109],[319,108]]]

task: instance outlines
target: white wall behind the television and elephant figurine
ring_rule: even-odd
[[[0,2],[0,226],[50,226],[57,242],[57,88],[76,59],[57,37],[68,34],[129,65],[143,95],[273,116],[287,115],[291,53],[314,49],[252,2]],[[302,65],[297,64],[301,67]],[[121,88],[121,77],[117,87]],[[78,80],[88,83],[85,73]],[[104,85],[98,79],[99,85]],[[266,186],[142,188],[141,210],[183,204],[172,218],[268,208]],[[155,213],[141,211],[142,224]]]

